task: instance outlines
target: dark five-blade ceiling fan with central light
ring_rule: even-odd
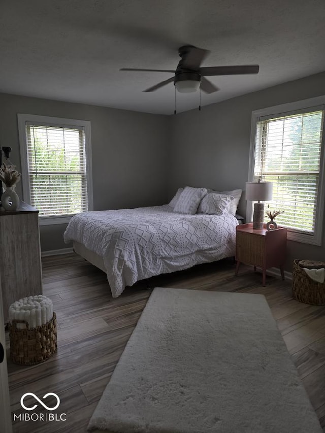
[[[193,45],[183,45],[178,49],[178,54],[181,57],[176,71],[160,70],[160,69],[133,69],[121,68],[120,71],[147,71],[147,72],[170,72],[175,74],[174,77],[168,80],[149,87],[144,92],[153,92],[160,87],[166,86],[174,81],[176,89],[181,93],[195,92],[201,89],[206,93],[213,93],[219,90],[211,81],[205,77],[217,75],[235,75],[235,74],[257,74],[259,70],[258,64],[237,65],[237,66],[209,66],[201,68],[200,65],[203,59],[209,53],[209,50],[194,47]]]

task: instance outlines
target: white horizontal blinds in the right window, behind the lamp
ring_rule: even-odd
[[[273,182],[271,209],[277,223],[313,234],[320,177],[324,109],[259,118],[255,180]]]

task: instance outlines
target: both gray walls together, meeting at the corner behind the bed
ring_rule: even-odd
[[[0,94],[0,144],[20,168],[17,113],[89,120],[94,209],[166,203],[179,186],[242,188],[248,178],[253,110],[325,94],[325,73],[246,94],[177,116]],[[21,186],[17,192],[22,196]],[[244,197],[239,213],[245,216]],[[41,226],[42,251],[66,248],[66,225]],[[294,258],[325,259],[321,247],[288,242]]]

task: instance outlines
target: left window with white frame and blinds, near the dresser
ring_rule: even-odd
[[[92,209],[90,122],[18,114],[24,201],[40,224]]]

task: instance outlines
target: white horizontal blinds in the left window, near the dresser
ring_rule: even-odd
[[[41,217],[88,210],[85,131],[26,122],[30,204]]]

